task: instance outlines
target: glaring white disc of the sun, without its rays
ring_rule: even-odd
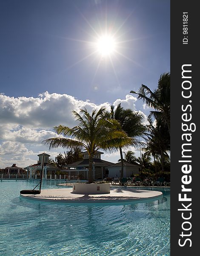
[[[98,38],[96,47],[100,55],[109,56],[115,51],[116,42],[111,35],[103,35]]]

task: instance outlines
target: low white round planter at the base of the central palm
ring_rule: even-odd
[[[74,194],[109,194],[110,193],[110,184],[96,184],[96,183],[73,183],[73,193]]]

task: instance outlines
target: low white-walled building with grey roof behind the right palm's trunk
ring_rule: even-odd
[[[121,163],[114,163],[113,165],[107,166],[108,177],[120,177]],[[131,177],[131,175],[138,174],[141,166],[132,163],[123,163],[123,177]]]

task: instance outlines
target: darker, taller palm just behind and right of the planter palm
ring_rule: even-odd
[[[107,113],[108,114],[108,113]],[[140,145],[135,138],[143,136],[146,131],[146,126],[143,125],[142,119],[143,115],[139,112],[133,112],[130,108],[124,109],[121,104],[117,105],[114,111],[114,106],[111,106],[110,116],[112,119],[117,120],[120,123],[121,129],[126,132],[126,134],[132,138],[132,144],[134,146]],[[120,159],[121,159],[121,172],[120,178],[123,178],[123,152],[122,147],[120,149]]]

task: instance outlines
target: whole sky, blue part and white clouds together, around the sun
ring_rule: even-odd
[[[117,48],[102,58],[95,42],[106,31]],[[0,35],[0,168],[34,163],[53,126],[74,124],[73,107],[148,115],[130,90],[153,90],[170,72],[169,0],[2,0]]]

